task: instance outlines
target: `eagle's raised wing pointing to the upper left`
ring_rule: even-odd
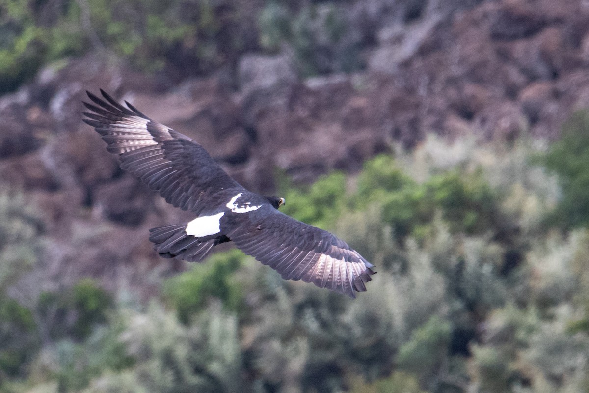
[[[121,168],[159,191],[168,203],[198,214],[213,194],[244,190],[200,144],[100,92],[104,100],[86,92],[94,104],[84,103],[91,110],[84,112],[85,123],[102,136],[108,151],[118,154]]]

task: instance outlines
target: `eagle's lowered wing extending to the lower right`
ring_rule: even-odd
[[[244,253],[284,279],[312,282],[355,298],[375,273],[374,266],[343,240],[269,204],[249,213],[225,214],[221,229]]]

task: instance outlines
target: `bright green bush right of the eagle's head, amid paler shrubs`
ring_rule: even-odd
[[[409,235],[422,239],[436,210],[442,212],[454,233],[497,231],[498,199],[480,169],[474,173],[449,170],[418,184],[398,169],[390,156],[366,162],[355,195],[360,208],[367,202],[382,204],[383,220],[398,239]]]

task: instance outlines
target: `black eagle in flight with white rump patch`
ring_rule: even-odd
[[[279,212],[284,199],[252,193],[221,169],[200,144],[133,105],[86,92],[90,124],[117,154],[121,168],[159,191],[166,202],[193,212],[188,223],[150,230],[164,258],[200,262],[214,246],[233,241],[284,279],[312,282],[352,298],[366,290],[374,267],[331,233]]]

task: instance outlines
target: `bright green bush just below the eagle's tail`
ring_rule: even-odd
[[[206,265],[194,265],[192,269],[164,282],[164,299],[178,312],[183,323],[200,312],[210,298],[221,300],[233,311],[240,309],[243,295],[234,273],[243,262],[239,250],[217,253],[207,260]]]

